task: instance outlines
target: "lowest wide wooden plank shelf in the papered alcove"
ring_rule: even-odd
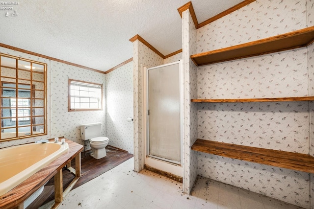
[[[306,154],[242,146],[204,139],[197,139],[191,149],[253,163],[314,173],[314,157]]]

